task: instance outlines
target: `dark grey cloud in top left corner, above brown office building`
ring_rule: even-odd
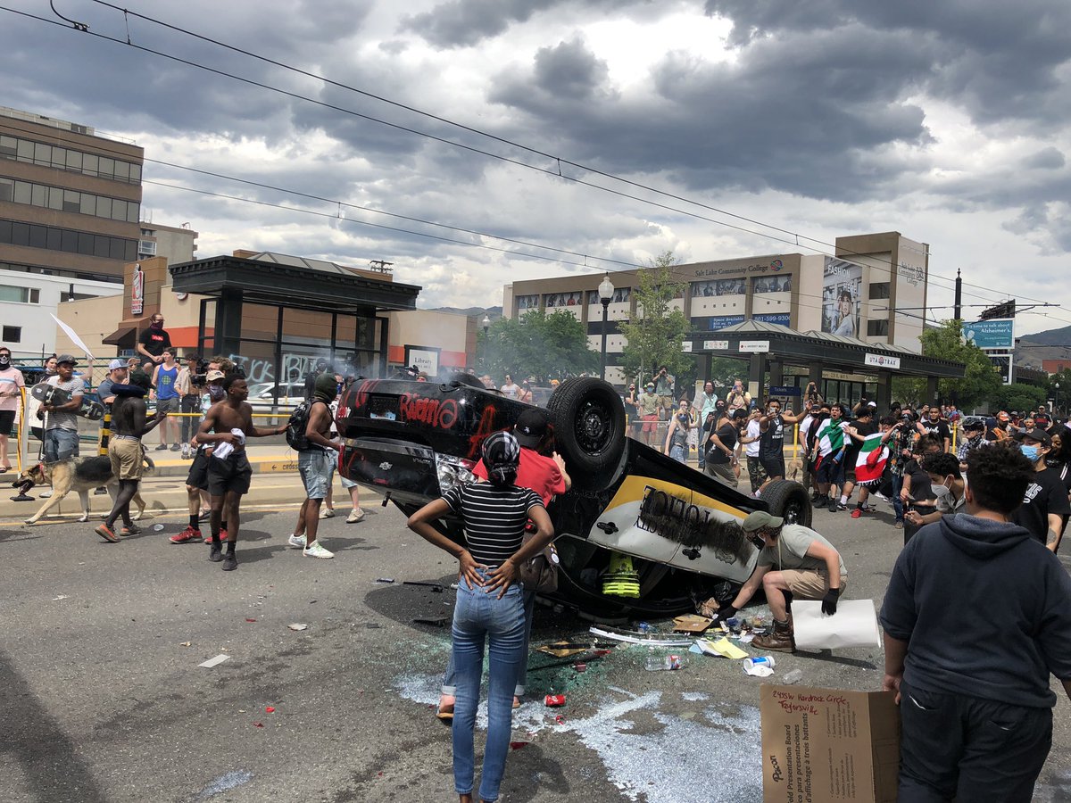
[[[40,3],[21,5],[41,13]],[[307,64],[303,59],[314,46],[328,47],[352,35],[371,2],[350,3],[345,10],[325,11],[321,5],[302,0],[288,9],[285,20],[270,6],[247,0],[224,5],[191,2],[178,18],[152,6],[139,11],[284,63]],[[263,136],[269,140],[287,131],[287,109],[293,101],[91,35],[125,43],[127,28],[121,14],[85,3],[78,6],[79,13],[65,11],[89,24],[91,33],[0,15],[0,47],[11,63],[27,66],[14,80],[9,76],[6,105],[65,117],[104,131],[205,132]],[[42,16],[47,16],[47,6]],[[130,20],[129,35],[136,45],[296,93],[306,93],[314,87],[310,79],[280,67],[136,18]],[[61,93],[58,88],[62,88]],[[135,99],[139,102],[133,102]]]

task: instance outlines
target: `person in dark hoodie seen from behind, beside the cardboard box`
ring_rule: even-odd
[[[1071,576],[1009,519],[1034,466],[1017,448],[967,456],[967,513],[923,527],[885,603],[885,679],[900,704],[901,801],[1029,801],[1071,698]]]

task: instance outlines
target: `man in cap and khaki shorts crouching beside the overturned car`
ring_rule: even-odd
[[[848,573],[840,552],[826,539],[802,525],[786,525],[783,518],[755,511],[741,522],[744,535],[758,547],[755,571],[729,605],[718,609],[720,619],[735,616],[754,596],[759,585],[773,613],[773,631],[755,636],[759,650],[795,652],[789,606],[795,597],[821,600],[821,612],[836,612]]]

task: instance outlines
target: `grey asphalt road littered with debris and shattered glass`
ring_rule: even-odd
[[[375,505],[362,524],[323,522],[335,560],[305,559],[286,546],[292,491],[272,487],[251,500],[233,573],[202,545],[168,544],[182,522],[159,511],[120,544],[91,525],[0,520],[0,800],[455,800],[449,729],[432,708],[449,631],[412,621],[450,616],[452,563]],[[817,514],[848,596],[881,599],[901,543],[889,521]],[[533,646],[588,625],[541,609]],[[218,654],[229,658],[197,666]],[[759,680],[695,655],[649,672],[645,656],[617,649],[577,673],[532,653],[502,800],[761,800]],[[806,685],[876,690],[881,653],[778,656],[779,676],[795,668]],[[543,706],[548,691],[567,695],[563,709]],[[1041,801],[1071,800],[1059,697]]]

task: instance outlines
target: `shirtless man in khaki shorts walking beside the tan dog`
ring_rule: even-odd
[[[119,535],[137,535],[140,529],[131,520],[131,500],[141,481],[144,452],[141,437],[167,418],[167,412],[146,415],[145,395],[149,392],[149,375],[144,370],[131,374],[130,384],[112,384],[111,437],[108,439],[108,458],[111,473],[119,480],[119,493],[111,513],[93,530],[105,541],[119,542]],[[116,534],[116,519],[123,517],[123,528]]]

